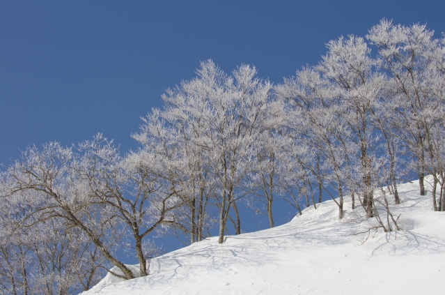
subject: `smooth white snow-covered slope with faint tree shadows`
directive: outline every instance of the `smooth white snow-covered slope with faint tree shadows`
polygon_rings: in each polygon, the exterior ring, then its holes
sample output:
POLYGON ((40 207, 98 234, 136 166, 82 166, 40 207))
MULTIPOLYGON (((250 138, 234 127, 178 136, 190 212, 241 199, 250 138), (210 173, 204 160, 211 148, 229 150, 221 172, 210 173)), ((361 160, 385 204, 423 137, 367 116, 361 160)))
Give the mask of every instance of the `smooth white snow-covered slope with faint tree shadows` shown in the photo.
POLYGON ((402 203, 391 206, 403 227, 397 233, 371 231, 364 242, 368 234, 357 233, 372 221, 355 222, 350 201, 338 220, 328 201, 286 225, 152 259, 144 278, 108 274, 84 294, 445 294, 445 212, 432 211, 431 192, 419 196, 418 181, 399 192, 402 203))

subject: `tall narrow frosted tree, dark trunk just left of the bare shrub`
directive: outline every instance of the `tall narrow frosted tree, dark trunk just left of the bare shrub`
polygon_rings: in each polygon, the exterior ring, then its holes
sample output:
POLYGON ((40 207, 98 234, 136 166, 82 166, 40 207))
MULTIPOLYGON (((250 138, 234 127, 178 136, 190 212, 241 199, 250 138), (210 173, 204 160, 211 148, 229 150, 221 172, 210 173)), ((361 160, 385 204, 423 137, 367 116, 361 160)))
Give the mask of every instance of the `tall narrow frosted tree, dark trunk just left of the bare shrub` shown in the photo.
POLYGON ((352 135, 339 134, 338 139, 345 146, 345 153, 348 153, 345 140, 350 139, 347 162, 354 162, 354 158, 357 157, 359 163, 356 174, 360 180, 352 191, 361 192, 364 208, 368 216, 371 216, 373 190, 377 187, 377 183, 373 180, 375 155, 372 151, 378 139, 370 124, 370 113, 382 85, 382 79, 373 75, 373 60, 364 39, 355 36, 349 36, 347 40, 339 38, 331 40, 327 48, 328 53, 323 56, 323 61, 319 63, 317 70, 331 82, 335 89, 331 93, 336 93, 338 96, 338 100, 333 100, 338 104, 335 112, 339 112, 338 117, 343 119, 348 132, 352 135))

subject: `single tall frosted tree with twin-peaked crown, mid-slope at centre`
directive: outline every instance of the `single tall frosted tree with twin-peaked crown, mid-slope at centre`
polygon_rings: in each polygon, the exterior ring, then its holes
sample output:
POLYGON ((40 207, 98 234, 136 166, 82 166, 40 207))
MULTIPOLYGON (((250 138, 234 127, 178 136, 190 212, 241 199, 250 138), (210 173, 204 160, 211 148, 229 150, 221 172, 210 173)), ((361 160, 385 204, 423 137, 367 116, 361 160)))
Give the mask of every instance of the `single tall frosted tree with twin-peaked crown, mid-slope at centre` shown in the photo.
MULTIPOLYGON (((251 66, 240 66, 231 77, 212 61, 205 61, 196 73, 194 80, 167 91, 163 98, 168 115, 163 120, 174 129, 174 144, 200 159, 196 175, 205 174, 211 189, 202 184, 195 191, 212 193, 219 209, 219 243, 223 243, 228 220, 233 221, 237 234, 241 232, 237 200, 245 195, 243 188, 253 172, 256 139, 279 124, 281 107, 271 99, 272 84, 255 78, 256 69, 251 66), (232 210, 234 218, 229 215, 232 210)), ((147 142, 146 134, 153 135, 148 132, 153 125, 146 124, 135 136, 142 143, 147 142)), ((182 153, 181 161, 187 157, 182 153)))

